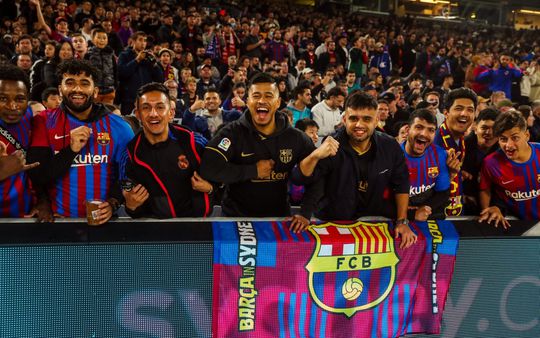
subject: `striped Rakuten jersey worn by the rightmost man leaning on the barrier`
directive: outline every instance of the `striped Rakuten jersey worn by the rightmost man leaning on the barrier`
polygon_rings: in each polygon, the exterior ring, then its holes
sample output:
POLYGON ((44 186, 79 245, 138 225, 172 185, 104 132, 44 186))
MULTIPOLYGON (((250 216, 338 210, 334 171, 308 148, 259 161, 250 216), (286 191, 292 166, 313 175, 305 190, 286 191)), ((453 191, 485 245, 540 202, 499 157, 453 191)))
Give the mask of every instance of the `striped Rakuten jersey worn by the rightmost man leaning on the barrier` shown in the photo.
POLYGON ((484 159, 480 190, 493 189, 495 205, 504 205, 520 219, 540 219, 540 144, 529 143, 531 158, 524 163, 509 160, 499 149, 484 159))

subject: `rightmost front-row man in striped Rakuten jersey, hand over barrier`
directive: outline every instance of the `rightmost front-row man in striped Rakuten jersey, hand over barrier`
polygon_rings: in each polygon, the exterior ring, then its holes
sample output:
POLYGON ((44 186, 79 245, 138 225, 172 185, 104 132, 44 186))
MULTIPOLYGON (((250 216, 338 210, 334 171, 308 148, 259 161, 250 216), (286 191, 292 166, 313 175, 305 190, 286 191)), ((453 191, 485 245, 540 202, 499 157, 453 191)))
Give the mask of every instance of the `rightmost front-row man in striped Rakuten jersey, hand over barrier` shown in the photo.
POLYGON ((515 110, 497 117, 493 133, 501 148, 482 164, 479 221, 507 228, 505 213, 540 219, 540 144, 529 142, 527 122, 515 110))

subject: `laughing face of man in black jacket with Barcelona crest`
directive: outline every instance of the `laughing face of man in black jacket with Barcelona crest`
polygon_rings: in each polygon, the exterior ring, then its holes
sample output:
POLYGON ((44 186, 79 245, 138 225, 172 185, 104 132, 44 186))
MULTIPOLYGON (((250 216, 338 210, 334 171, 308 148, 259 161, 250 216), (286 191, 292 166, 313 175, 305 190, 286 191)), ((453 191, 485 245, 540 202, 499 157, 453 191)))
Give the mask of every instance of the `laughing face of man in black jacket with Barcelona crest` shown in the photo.
POLYGON ((271 134, 276 121, 274 115, 279 108, 280 97, 275 83, 254 83, 249 88, 247 106, 255 128, 263 134, 271 134))

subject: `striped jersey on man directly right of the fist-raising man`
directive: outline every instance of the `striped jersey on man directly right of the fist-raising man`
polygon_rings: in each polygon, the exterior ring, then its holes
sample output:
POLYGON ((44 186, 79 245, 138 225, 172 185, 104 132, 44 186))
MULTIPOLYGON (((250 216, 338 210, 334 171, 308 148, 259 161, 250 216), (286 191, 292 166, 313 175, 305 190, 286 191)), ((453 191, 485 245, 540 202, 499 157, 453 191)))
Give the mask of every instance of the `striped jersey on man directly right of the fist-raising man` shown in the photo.
POLYGON ((420 157, 414 157, 405 151, 405 143, 401 149, 407 160, 409 168, 409 182, 411 189, 409 197, 424 201, 424 195, 432 195, 434 191, 444 191, 450 188, 450 175, 446 165, 446 151, 438 145, 432 144, 420 157))

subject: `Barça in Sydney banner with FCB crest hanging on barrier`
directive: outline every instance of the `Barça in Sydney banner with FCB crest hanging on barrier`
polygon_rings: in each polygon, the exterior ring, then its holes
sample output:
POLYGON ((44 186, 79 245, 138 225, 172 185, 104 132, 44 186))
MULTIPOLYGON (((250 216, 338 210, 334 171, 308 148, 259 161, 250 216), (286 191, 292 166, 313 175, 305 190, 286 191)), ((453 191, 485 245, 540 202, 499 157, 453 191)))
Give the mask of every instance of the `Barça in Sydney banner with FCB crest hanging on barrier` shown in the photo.
POLYGON ((458 235, 412 223, 214 223, 214 337, 398 337, 439 333, 458 235))

